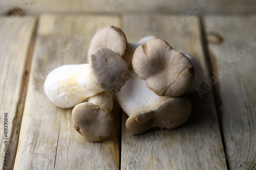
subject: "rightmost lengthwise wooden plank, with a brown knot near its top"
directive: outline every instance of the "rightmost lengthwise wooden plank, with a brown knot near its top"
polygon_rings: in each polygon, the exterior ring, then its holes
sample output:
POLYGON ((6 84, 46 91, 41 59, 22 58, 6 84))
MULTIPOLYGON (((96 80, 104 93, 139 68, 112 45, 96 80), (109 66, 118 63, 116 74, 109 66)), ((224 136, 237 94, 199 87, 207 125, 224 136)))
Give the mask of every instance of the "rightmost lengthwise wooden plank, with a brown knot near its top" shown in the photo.
POLYGON ((208 48, 213 71, 228 68, 215 86, 228 167, 255 169, 256 16, 207 16, 204 25, 206 35, 215 33, 223 38, 222 43, 208 43, 208 48), (254 42, 252 47, 244 48, 246 39, 254 42), (229 57, 247 48, 237 59, 229 57))

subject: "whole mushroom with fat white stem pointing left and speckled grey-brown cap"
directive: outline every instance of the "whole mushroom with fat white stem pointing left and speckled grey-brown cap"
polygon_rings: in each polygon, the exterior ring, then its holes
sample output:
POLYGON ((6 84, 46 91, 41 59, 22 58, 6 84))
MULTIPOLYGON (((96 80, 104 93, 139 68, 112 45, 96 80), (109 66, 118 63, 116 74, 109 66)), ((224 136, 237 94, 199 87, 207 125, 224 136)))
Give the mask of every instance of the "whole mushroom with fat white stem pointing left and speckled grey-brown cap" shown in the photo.
POLYGON ((109 48, 99 47, 89 64, 64 65, 49 73, 45 93, 61 108, 77 105, 102 91, 117 93, 129 72, 126 62, 109 48))

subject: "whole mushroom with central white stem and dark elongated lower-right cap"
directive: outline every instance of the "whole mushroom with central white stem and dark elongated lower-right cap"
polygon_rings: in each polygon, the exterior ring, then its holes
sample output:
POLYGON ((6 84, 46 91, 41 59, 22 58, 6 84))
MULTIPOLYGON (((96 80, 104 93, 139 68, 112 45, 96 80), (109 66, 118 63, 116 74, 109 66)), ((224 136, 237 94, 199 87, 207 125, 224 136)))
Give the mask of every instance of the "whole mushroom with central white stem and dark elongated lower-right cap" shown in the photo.
POLYGON ((132 134, 155 127, 176 128, 188 119, 191 103, 186 96, 159 96, 133 70, 130 77, 116 95, 121 108, 129 115, 126 128, 132 134))

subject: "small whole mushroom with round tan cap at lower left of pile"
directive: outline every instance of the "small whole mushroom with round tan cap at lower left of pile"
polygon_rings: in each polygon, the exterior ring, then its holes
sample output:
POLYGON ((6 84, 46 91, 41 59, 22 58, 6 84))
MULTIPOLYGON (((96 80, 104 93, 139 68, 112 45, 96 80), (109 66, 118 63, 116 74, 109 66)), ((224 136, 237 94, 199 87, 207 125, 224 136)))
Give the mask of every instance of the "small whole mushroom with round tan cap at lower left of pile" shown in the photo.
POLYGON ((102 141, 111 135, 113 116, 112 95, 98 93, 88 98, 88 102, 76 105, 72 110, 74 128, 91 141, 102 141), (108 96, 106 98, 106 96, 108 96))

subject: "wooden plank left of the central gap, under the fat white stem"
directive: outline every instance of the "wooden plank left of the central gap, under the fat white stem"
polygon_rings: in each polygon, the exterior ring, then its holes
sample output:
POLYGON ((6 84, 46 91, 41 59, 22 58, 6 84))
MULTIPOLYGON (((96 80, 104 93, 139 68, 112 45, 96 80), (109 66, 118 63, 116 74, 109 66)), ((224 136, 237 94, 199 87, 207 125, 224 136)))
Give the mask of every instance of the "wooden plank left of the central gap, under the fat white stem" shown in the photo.
POLYGON ((110 139, 91 142, 73 128, 72 109, 54 106, 43 88, 53 68, 86 63, 92 36, 106 25, 119 26, 119 17, 40 16, 14 169, 118 169, 118 124, 110 139))

